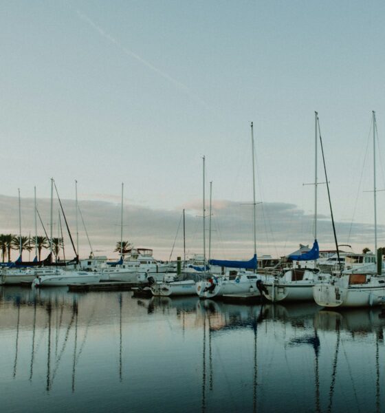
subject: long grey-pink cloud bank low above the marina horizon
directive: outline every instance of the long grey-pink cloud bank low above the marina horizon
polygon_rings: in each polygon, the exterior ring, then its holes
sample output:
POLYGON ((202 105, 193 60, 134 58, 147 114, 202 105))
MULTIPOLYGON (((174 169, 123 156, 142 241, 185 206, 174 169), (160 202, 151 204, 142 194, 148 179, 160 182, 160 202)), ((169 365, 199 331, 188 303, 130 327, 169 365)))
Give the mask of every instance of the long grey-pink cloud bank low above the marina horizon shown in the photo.
MULTIPOLYGON (((63 208, 76 244, 76 209, 74 200, 62 200, 63 208)), ((80 210, 85 220, 85 227, 96 255, 116 256, 113 253, 116 242, 120 240, 120 202, 104 200, 82 200, 80 210)), ((50 200, 40 198, 37 207, 43 224, 50 234, 50 200)), ((183 256, 182 209, 186 209, 186 253, 203 251, 203 230, 201 202, 190 202, 177 210, 151 209, 135 204, 124 204, 124 240, 129 240, 137 247, 153 248, 155 257, 168 259, 183 256), (174 248, 173 248, 174 246, 174 248)), ((52 231, 58 236, 57 200, 54 201, 54 223, 52 231)), ((206 211, 208 215, 208 209, 206 211)), ((281 256, 294 251, 298 244, 312 244, 314 240, 314 217, 307 215, 295 204, 267 202, 256 208, 256 244, 259 255, 268 253, 281 256)), ((23 235, 34 235, 34 200, 21 199, 21 229, 23 235)), ((38 218, 39 220, 39 218, 38 218)), ((17 197, 0 195, 0 232, 19 233, 19 204, 17 197)), ((242 202, 219 200, 212 204, 212 257, 250 258, 254 251, 252 229, 252 205, 242 202)), ((66 256, 74 254, 69 242, 62 218, 65 237, 66 256)), ((206 248, 208 248, 208 224, 206 221, 206 248)), ((78 216, 80 256, 89 254, 85 229, 78 216)), ((337 222, 336 229, 340 244, 351 244, 355 251, 374 244, 374 229, 371 224, 337 222), (352 235, 349 237, 349 233, 352 235)), ((381 226, 378 232, 383 230, 381 226)), ((38 221, 38 233, 43 235, 43 227, 38 221)), ((330 219, 318 218, 318 240, 320 248, 334 248, 333 230, 330 219)), ((380 237, 379 246, 385 244, 380 237)), ((208 255, 208 249, 206 251, 208 255)))

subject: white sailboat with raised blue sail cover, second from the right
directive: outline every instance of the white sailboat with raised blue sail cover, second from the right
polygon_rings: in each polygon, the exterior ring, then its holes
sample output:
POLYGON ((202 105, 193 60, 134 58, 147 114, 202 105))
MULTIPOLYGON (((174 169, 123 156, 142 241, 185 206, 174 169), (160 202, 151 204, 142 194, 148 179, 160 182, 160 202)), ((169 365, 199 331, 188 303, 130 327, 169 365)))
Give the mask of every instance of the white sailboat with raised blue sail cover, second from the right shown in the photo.
POLYGON ((316 117, 316 147, 315 147, 315 191, 314 191, 314 244, 310 251, 300 255, 289 255, 293 267, 287 269, 280 276, 275 277, 272 282, 263 283, 263 295, 270 301, 310 301, 313 300, 313 286, 320 282, 329 280, 331 275, 322 273, 316 266, 320 255, 317 241, 317 147, 318 147, 318 113, 316 117), (305 265, 301 265, 303 263, 305 265))

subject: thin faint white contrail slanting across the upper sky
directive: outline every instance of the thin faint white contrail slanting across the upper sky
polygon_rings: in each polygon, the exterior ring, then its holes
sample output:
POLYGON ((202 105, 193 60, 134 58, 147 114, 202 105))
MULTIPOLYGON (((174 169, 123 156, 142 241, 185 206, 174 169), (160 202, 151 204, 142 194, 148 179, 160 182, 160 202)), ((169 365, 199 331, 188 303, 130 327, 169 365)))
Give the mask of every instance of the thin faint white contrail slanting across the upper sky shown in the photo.
POLYGON ((105 32, 102 28, 100 28, 100 26, 98 26, 94 21, 92 21, 91 19, 89 19, 89 17, 87 17, 85 14, 83 14, 82 12, 80 12, 80 10, 76 10, 76 13, 78 14, 78 17, 80 17, 80 19, 82 19, 83 21, 85 21, 86 23, 88 23, 92 28, 94 28, 101 36, 104 37, 104 39, 109 40, 111 43, 113 43, 116 47, 118 47, 120 50, 122 50, 122 52, 124 54, 126 54, 127 56, 133 57, 134 59, 136 59, 137 61, 139 61, 140 63, 142 63, 143 65, 145 65, 146 67, 148 67, 148 69, 153 70, 153 72, 159 74, 160 76, 162 76, 163 78, 165 78, 166 80, 168 80, 170 83, 173 83, 173 85, 175 85, 177 88, 181 89, 183 92, 185 92, 186 94, 188 94, 190 97, 194 98, 195 100, 198 100, 199 103, 201 103, 204 107, 206 107, 206 109, 210 109, 210 106, 204 102, 203 100, 201 100, 201 98, 199 98, 198 96, 195 96, 195 94, 193 94, 191 92, 191 90, 184 85, 183 83, 175 80, 174 78, 172 78, 171 76, 169 76, 168 74, 162 72, 162 70, 159 70, 157 67, 155 67, 153 64, 149 63, 148 61, 144 60, 141 56, 139 56, 138 54, 131 52, 131 50, 127 49, 127 47, 125 47, 124 45, 122 45, 117 39, 115 39, 115 37, 111 36, 111 34, 105 32))

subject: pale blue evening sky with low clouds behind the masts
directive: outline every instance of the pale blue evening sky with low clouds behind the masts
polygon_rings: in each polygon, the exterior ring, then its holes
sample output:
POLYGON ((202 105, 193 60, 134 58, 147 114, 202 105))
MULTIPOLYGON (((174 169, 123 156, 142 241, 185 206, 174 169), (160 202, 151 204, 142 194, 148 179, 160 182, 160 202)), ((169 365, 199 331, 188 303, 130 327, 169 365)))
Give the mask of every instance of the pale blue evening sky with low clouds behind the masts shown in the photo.
MULTIPOLYGON (((314 240, 304 184, 317 111, 338 242, 372 248, 375 110, 385 243, 383 2, 12 0, 0 10, 2 232, 19 231, 18 189, 22 232, 34 232, 34 187, 45 211, 51 177, 73 229, 78 180, 94 249, 113 256, 124 182, 125 239, 155 257, 174 243, 180 253, 186 209, 188 251, 201 253, 205 156, 212 252, 250 257, 253 122, 257 251, 289 253, 314 240)), ((325 182, 321 162, 318 151, 325 182)), ((325 184, 318 213, 320 248, 333 248, 325 184)))

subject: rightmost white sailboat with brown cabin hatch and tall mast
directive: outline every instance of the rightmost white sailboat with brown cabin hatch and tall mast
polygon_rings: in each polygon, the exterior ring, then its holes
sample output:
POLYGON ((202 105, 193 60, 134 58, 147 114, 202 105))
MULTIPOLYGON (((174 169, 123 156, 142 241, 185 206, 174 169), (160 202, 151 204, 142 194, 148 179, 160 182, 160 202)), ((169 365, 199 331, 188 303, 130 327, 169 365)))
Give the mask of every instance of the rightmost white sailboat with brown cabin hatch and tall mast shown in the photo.
MULTIPOLYGON (((377 187, 375 167, 375 142, 377 125, 373 111, 373 193, 375 251, 377 251, 377 187)), ((382 276, 382 252, 377 251, 377 268, 375 264, 351 268, 343 271, 340 277, 331 282, 314 286, 314 300, 323 307, 363 307, 377 306, 385 302, 385 277, 382 276)))

